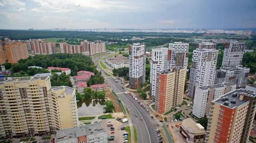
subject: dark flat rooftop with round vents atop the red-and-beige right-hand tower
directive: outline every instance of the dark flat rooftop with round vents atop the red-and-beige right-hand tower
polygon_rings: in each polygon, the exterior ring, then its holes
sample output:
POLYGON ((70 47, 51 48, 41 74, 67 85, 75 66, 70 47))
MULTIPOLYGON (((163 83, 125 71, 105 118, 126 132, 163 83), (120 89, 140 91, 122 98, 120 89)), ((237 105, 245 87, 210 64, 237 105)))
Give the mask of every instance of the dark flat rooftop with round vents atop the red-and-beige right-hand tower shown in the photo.
POLYGON ((254 98, 256 97, 256 91, 240 88, 240 89, 233 90, 230 93, 224 94, 212 102, 221 104, 229 108, 240 107, 246 102, 249 102, 249 101, 239 100, 240 95, 250 96, 254 98))

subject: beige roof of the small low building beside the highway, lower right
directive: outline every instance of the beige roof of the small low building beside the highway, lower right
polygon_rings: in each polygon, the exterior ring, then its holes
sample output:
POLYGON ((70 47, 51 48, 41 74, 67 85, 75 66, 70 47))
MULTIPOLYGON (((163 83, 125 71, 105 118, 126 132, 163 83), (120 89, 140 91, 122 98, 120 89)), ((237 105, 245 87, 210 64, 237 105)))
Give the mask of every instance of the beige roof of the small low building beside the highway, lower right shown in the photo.
POLYGON ((191 134, 205 134, 206 131, 200 123, 196 123, 192 118, 186 118, 182 121, 181 126, 191 134))

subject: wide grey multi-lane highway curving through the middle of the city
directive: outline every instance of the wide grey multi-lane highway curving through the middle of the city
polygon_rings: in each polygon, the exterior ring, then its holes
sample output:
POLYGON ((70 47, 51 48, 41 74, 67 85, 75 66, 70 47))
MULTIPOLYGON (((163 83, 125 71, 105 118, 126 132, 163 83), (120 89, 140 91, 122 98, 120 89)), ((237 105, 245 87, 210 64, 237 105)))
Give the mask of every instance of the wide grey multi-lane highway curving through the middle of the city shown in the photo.
POLYGON ((109 55, 111 55, 111 53, 93 58, 93 62, 97 65, 97 69, 102 71, 102 76, 104 76, 108 85, 120 98, 122 103, 130 109, 131 121, 137 130, 138 143, 158 143, 157 132, 155 129, 159 127, 159 124, 156 119, 150 117, 150 114, 152 114, 150 109, 148 109, 146 105, 144 105, 145 109, 140 106, 131 95, 125 93, 127 90, 126 88, 122 89, 122 85, 120 84, 121 81, 115 82, 113 80, 114 77, 106 75, 104 70, 99 66, 99 60, 109 55), (149 112, 147 112, 146 109, 148 109, 149 112), (135 117, 135 115, 137 115, 137 117, 135 117), (140 118, 143 120, 141 121, 140 118))

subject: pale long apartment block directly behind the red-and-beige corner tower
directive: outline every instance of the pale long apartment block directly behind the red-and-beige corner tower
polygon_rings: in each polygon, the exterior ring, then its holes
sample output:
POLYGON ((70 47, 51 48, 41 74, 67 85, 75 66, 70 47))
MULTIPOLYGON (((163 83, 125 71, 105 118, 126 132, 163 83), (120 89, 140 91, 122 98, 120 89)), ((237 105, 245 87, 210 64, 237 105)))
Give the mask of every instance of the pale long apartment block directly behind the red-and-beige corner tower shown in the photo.
POLYGON ((193 112, 197 118, 209 117, 211 102, 220 96, 236 90, 236 84, 221 83, 203 87, 195 87, 193 112))

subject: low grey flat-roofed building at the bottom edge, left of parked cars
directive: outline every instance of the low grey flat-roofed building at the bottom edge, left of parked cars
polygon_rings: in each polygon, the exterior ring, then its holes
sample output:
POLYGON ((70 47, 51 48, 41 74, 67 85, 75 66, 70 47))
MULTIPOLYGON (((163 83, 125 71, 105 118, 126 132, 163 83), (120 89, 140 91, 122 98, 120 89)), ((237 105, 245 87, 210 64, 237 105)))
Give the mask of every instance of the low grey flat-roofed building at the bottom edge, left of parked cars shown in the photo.
POLYGON ((58 130, 56 136, 56 143, 108 143, 101 123, 58 130))

